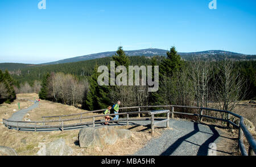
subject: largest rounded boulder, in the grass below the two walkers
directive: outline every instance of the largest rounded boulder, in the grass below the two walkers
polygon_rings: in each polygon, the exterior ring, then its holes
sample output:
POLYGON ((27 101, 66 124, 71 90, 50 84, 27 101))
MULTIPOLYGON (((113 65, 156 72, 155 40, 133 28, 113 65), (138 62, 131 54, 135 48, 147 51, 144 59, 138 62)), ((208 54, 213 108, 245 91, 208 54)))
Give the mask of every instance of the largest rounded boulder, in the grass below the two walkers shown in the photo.
POLYGON ((80 147, 103 147, 117 142, 118 134, 114 127, 85 127, 79 131, 80 147))

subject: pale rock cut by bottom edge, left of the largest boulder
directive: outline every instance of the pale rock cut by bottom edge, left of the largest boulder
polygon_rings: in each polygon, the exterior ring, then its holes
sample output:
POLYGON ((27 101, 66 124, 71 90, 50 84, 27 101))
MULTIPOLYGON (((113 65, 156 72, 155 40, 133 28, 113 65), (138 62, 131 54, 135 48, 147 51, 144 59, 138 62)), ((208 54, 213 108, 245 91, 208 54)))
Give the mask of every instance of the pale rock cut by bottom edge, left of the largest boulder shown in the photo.
POLYGON ((40 144, 39 156, 69 156, 73 154, 72 148, 68 147, 64 139, 57 139, 51 143, 40 144))

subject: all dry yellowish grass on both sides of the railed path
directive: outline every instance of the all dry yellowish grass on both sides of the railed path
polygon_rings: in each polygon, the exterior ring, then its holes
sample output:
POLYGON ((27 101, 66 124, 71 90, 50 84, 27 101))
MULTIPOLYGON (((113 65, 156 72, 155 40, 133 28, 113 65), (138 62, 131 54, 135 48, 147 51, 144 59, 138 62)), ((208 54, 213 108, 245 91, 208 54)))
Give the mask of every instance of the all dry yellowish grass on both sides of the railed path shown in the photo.
MULTIPOLYGON (((37 94, 19 94, 18 99, 30 99, 38 98, 37 94)), ((15 100, 12 104, 0 105, 0 117, 9 118, 13 114, 13 108, 18 106, 18 100, 15 100)), ((33 103, 28 101, 20 102, 21 106, 30 106, 33 103)), ((42 121, 42 116, 45 115, 62 115, 62 114, 74 114, 85 112, 85 110, 77 109, 73 106, 57 104, 54 102, 40 100, 39 107, 31 110, 26 115, 26 118, 31 121, 42 121)), ((86 114, 95 115, 94 114, 86 114)), ((77 117, 77 116, 76 116, 77 117)), ((70 118, 70 117, 68 117, 70 118)), ((55 118, 56 119, 56 118, 55 118)), ((103 119, 103 118, 98 118, 103 119)), ((89 121, 89 120, 88 120, 89 121)), ((91 120, 92 121, 92 120, 91 120)), ((72 122, 68 122, 72 123, 72 122)), ((130 139, 118 140, 115 145, 105 145, 103 148, 80 148, 78 144, 79 130, 67 130, 67 131, 51 131, 51 132, 32 132, 32 131, 16 131, 9 130, 3 124, 0 125, 0 145, 14 148, 18 155, 36 155, 42 144, 47 144, 53 140, 63 138, 66 144, 73 149, 73 155, 131 155, 142 148, 152 138, 150 129, 145 126, 117 126, 118 129, 130 129, 133 131, 133 135, 130 139), (142 131, 143 130, 143 131, 142 131)), ((157 138, 162 133, 163 129, 156 128, 155 136, 157 138)))

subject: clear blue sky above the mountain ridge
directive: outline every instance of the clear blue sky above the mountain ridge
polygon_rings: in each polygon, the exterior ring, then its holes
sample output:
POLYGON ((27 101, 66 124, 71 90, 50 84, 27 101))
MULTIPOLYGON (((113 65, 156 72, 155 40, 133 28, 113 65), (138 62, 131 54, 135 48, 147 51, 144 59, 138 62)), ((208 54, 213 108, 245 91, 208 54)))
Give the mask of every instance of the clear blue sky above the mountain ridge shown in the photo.
POLYGON ((117 50, 256 54, 256 1, 0 1, 0 62, 44 63, 117 50))

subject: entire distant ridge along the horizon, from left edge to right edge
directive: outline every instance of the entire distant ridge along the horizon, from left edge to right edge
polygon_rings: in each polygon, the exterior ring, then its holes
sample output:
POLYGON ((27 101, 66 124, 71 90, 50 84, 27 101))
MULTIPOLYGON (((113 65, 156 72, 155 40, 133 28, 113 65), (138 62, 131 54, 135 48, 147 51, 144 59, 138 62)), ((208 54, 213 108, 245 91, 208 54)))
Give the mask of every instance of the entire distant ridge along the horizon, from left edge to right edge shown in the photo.
MULTIPOLYGON (((164 49, 141 49, 141 50, 127 50, 125 51, 126 55, 133 56, 133 55, 140 55, 140 56, 154 56, 154 55, 162 55, 166 56, 167 50, 164 49)), ((36 66, 46 66, 46 65, 57 65, 57 64, 63 64, 63 63, 72 63, 72 62, 80 62, 80 61, 86 61, 91 59, 97 59, 97 58, 104 58, 104 57, 111 57, 116 52, 102 52, 102 53, 95 53, 95 54, 88 54, 88 55, 82 55, 79 57, 73 57, 73 58, 67 58, 62 59, 55 62, 48 62, 48 63, 42 63, 42 64, 23 64, 23 63, 0 63, 0 70, 6 70, 9 71, 23 69, 27 67, 36 67, 36 66)), ((189 53, 183 53, 178 52, 180 54, 181 58, 185 60, 191 60, 193 58, 199 58, 201 60, 209 60, 209 61, 217 61, 220 60, 226 55, 228 58, 236 59, 236 60, 256 60, 256 55, 246 55, 241 53, 234 53, 234 52, 228 52, 224 50, 207 50, 202 52, 189 52, 189 53)))

